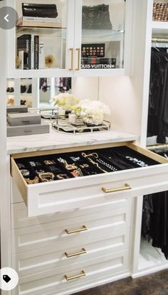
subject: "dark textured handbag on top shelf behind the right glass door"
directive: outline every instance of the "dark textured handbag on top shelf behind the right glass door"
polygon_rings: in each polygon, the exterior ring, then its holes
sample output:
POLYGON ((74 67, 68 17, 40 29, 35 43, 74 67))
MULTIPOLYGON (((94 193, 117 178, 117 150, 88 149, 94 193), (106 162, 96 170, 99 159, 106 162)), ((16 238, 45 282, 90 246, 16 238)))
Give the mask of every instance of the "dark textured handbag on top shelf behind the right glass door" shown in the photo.
POLYGON ((109 5, 83 6, 83 28, 112 29, 109 5))

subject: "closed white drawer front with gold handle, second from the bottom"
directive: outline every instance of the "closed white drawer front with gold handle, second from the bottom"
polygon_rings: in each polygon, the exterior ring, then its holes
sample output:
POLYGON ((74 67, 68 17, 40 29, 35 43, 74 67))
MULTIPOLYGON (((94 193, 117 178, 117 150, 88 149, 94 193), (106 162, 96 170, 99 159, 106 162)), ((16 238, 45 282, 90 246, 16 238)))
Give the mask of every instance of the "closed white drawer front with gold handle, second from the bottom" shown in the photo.
POLYGON ((101 237, 98 233, 94 238, 100 240, 92 242, 89 238, 83 244, 80 240, 75 240, 75 242, 61 244, 59 247, 52 246, 12 255, 12 267, 18 272, 19 277, 24 277, 54 268, 68 269, 70 264, 127 250, 130 242, 130 227, 119 230, 115 234, 108 230, 101 233, 101 237))

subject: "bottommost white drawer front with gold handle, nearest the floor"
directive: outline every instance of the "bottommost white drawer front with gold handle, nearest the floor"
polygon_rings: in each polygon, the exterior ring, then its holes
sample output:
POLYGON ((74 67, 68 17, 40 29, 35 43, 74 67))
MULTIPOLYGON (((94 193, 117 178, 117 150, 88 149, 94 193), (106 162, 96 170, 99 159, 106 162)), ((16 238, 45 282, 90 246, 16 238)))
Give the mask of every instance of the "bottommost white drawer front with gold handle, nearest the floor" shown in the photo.
MULTIPOLYGON (((115 274, 127 271, 128 252, 117 252, 103 257, 96 257, 80 265, 71 264, 62 272, 52 269, 48 272, 41 272, 19 279, 19 286, 12 291, 12 295, 46 295, 54 292, 59 294, 61 291, 73 289, 78 286, 85 286, 89 281, 99 281, 101 277, 113 277, 115 274), (85 277, 66 281, 65 274, 68 277, 76 276, 85 272, 85 277)), ((61 270, 61 269, 60 269, 61 270)))

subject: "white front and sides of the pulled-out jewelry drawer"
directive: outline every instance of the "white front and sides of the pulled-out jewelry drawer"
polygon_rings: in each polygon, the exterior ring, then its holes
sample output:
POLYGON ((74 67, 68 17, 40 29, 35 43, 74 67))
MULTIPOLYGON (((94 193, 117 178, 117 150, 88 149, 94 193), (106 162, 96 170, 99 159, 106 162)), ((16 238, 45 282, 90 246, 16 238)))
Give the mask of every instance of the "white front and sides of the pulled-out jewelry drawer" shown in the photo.
POLYGON ((28 217, 107 203, 112 196, 116 198, 125 196, 127 198, 166 191, 168 189, 167 159, 135 145, 128 144, 128 146, 162 164, 27 185, 16 166, 16 162, 11 158, 11 174, 27 205, 28 217), (129 186, 125 186, 126 183, 129 186), (103 188, 113 189, 113 191, 106 191, 105 193, 103 188), (125 189, 127 191, 123 191, 125 189))

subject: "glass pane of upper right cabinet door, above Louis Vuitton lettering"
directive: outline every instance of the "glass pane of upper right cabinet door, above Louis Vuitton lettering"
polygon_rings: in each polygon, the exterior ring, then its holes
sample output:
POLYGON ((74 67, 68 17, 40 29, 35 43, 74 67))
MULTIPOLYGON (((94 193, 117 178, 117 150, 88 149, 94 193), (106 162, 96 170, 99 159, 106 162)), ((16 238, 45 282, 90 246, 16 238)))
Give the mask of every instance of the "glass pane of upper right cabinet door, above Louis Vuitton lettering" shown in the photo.
POLYGON ((82 69, 123 68, 125 0, 83 0, 82 69))

